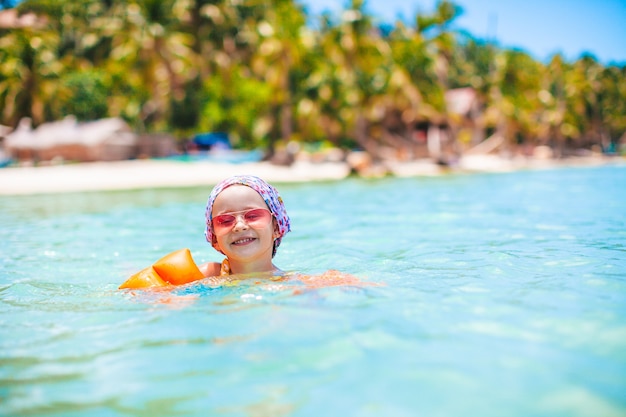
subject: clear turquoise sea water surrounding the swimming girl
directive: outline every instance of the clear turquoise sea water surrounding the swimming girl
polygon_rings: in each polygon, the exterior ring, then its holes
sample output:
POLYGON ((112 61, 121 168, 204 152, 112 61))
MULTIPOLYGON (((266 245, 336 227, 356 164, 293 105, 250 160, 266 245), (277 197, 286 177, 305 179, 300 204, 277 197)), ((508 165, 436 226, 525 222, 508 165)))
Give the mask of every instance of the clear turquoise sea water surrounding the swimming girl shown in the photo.
POLYGON ((0 198, 0 415, 624 416, 626 167, 277 184, 276 264, 117 291, 207 189, 0 198))

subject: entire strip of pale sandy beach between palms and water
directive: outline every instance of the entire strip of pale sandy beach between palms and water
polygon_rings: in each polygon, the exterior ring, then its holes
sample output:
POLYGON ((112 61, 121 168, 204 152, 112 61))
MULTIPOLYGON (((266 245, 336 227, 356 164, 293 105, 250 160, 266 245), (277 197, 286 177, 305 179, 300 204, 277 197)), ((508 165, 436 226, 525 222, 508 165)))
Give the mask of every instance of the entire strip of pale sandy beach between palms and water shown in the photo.
MULTIPOLYGON (((387 175, 423 177, 450 174, 497 173, 521 170, 622 165, 624 157, 589 156, 560 160, 514 158, 491 155, 462 158, 453 167, 430 160, 393 162, 385 165, 387 175)), ((269 162, 218 163, 168 160, 86 162, 41 167, 0 169, 0 196, 115 191, 147 188, 213 186, 237 175, 257 175, 270 183, 336 181, 351 173, 345 162, 297 161, 290 167, 269 162)), ((383 175, 372 175, 372 177, 383 175)))

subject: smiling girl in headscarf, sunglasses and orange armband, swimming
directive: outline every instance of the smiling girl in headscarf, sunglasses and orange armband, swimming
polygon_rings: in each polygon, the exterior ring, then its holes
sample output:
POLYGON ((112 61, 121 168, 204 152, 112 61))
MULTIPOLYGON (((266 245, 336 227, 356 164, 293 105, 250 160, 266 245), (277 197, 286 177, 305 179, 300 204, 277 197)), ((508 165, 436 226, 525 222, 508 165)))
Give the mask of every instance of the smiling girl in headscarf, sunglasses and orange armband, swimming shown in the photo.
POLYGON ((284 274, 272 259, 291 230, 276 188, 251 175, 238 175, 213 188, 206 206, 206 240, 226 258, 197 266, 189 249, 172 252, 132 275, 120 288, 182 285, 209 277, 242 274, 279 275, 308 288, 362 284, 356 277, 329 270, 322 275, 284 274))

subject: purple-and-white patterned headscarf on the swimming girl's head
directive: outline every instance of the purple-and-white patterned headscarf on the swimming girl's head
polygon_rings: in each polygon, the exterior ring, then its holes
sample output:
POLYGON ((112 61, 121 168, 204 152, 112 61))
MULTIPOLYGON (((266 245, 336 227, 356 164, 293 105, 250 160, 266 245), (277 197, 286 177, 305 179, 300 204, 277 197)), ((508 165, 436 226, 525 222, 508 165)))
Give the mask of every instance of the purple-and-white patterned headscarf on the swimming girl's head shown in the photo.
MULTIPOLYGON (((230 177, 225 179, 224 181, 217 184, 213 191, 211 191, 211 195, 209 195, 209 200, 206 205, 206 230, 204 235, 206 236, 207 242, 209 242, 216 250, 217 249, 217 241, 214 239, 215 234, 213 232, 213 203, 215 203, 215 199, 226 188, 231 185, 245 185, 247 187, 252 188, 254 191, 259 193, 259 195, 265 200, 265 204, 267 204, 267 208, 272 212, 274 219, 276 219, 276 224, 278 225, 278 237, 274 240, 274 248, 272 251, 272 257, 276 255, 276 249, 280 245, 280 242, 283 239, 283 236, 291 230, 291 224, 289 222, 289 216, 287 215, 287 210, 285 209, 285 204, 283 203, 283 199, 278 194, 278 190, 263 181, 259 177, 255 177, 252 175, 236 175, 234 177, 230 177)), ((220 251, 221 252, 221 251, 220 251)))

